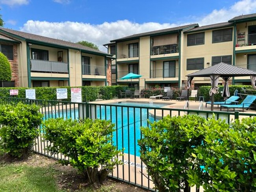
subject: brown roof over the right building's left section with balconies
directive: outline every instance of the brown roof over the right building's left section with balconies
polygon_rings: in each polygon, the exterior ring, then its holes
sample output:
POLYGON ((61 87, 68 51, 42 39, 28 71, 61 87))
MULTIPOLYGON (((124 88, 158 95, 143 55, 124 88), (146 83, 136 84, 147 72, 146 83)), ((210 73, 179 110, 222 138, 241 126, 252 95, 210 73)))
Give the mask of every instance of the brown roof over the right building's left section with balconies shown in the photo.
POLYGON ((145 32, 145 33, 138 33, 138 34, 122 37, 122 38, 119 38, 119 39, 111 40, 110 42, 122 41, 122 40, 126 40, 126 39, 133 39, 133 38, 143 37, 143 36, 148 36, 148 35, 156 35, 158 33, 167 33, 167 32, 172 32, 172 31, 178 31, 178 30, 183 30, 183 29, 186 29, 186 28, 197 27, 197 26, 198 26, 198 24, 190 24, 190 25, 178 26, 178 27, 174 27, 174 28, 167 28, 167 29, 163 29, 163 30, 156 30, 156 31, 149 31, 149 32, 145 32))

